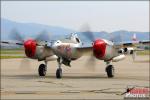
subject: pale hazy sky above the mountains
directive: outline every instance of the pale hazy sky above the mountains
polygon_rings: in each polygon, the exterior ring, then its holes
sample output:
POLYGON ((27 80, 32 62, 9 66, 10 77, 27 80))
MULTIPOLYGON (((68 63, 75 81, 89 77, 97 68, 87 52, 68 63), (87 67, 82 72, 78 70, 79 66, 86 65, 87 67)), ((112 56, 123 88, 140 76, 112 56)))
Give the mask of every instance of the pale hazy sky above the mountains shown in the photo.
POLYGON ((1 1, 1 17, 93 31, 149 31, 149 1, 1 1))

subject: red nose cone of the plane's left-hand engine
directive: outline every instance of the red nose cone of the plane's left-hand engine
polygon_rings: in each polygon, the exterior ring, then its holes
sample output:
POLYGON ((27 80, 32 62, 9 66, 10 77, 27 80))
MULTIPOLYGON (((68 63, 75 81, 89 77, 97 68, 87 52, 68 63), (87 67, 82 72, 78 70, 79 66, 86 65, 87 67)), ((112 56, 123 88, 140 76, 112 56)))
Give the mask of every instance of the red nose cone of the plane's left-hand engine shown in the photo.
POLYGON ((25 54, 27 57, 34 57, 36 52, 36 41, 29 39, 24 42, 25 54))

